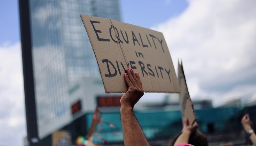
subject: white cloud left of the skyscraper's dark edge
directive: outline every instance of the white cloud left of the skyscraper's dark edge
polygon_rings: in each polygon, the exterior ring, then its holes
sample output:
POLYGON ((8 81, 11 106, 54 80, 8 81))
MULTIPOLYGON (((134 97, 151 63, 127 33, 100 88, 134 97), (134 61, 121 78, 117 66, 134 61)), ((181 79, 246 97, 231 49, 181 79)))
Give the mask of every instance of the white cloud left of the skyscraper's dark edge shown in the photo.
POLYGON ((0 46, 0 145, 22 145, 26 135, 21 44, 0 46))

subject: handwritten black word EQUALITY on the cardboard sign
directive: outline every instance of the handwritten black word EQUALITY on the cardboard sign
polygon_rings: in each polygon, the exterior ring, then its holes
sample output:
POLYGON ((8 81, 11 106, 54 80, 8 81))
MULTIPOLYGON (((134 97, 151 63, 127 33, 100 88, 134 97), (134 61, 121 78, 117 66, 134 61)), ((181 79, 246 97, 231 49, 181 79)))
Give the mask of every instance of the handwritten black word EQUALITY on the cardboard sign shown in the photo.
MULTIPOLYGON (((94 30, 94 32, 95 32, 95 34, 97 36, 98 41, 110 42, 110 38, 100 38, 99 37, 99 33, 101 33, 101 30, 99 30, 99 28, 100 28, 99 24, 101 24, 101 22, 99 22, 99 21, 92 21, 92 20, 90 20, 90 22, 91 22, 93 30, 94 30), (97 26, 97 28, 95 28, 95 26, 97 26)), ((122 43, 122 44, 124 44, 124 42, 125 42, 125 43, 129 44, 129 38, 130 38, 132 40, 134 46, 142 45, 142 47, 144 47, 144 48, 145 47, 148 48, 150 46, 151 48, 155 47, 155 49, 157 49, 156 43, 160 43, 160 45, 162 47, 162 50, 163 50, 163 53, 164 53, 163 44, 162 44, 163 43, 163 39, 160 40, 158 37, 155 37, 152 34, 149 34, 149 35, 145 34, 147 40, 146 39, 143 40, 140 33, 138 33, 139 34, 139 37, 138 37, 138 34, 136 36, 135 33, 132 30, 131 30, 131 35, 132 36, 128 37, 126 31, 124 31, 124 33, 123 33, 122 30, 119 31, 113 25, 111 25, 111 27, 109 27, 109 36, 111 37, 112 41, 115 42, 115 43, 122 43), (114 31, 114 34, 112 34, 112 30, 114 31), (124 33, 125 33, 125 36, 124 36, 124 33), (122 39, 120 37, 120 34, 122 35, 122 39), (116 37, 118 41, 115 40, 114 37, 116 37), (139 38, 139 39, 137 39, 137 38, 139 38)))

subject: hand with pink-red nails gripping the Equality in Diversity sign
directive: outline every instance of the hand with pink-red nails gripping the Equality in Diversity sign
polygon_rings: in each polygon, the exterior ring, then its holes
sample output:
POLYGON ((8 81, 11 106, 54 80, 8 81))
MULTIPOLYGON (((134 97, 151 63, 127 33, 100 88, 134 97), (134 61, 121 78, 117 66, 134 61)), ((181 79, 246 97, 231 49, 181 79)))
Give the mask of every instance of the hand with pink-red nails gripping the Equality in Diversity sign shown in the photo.
POLYGON ((139 73, 134 73, 132 68, 128 68, 126 71, 127 73, 124 74, 124 78, 128 85, 128 91, 124 93, 120 102, 121 105, 126 104, 133 108, 143 96, 144 91, 142 89, 139 73))

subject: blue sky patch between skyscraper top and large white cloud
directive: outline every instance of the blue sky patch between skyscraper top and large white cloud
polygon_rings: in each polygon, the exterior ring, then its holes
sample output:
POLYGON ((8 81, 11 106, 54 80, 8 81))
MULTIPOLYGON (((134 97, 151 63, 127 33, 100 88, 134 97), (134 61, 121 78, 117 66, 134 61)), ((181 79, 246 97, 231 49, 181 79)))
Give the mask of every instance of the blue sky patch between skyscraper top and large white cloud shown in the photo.
POLYGON ((123 22, 146 28, 178 16, 188 6, 185 0, 121 0, 120 3, 123 22))

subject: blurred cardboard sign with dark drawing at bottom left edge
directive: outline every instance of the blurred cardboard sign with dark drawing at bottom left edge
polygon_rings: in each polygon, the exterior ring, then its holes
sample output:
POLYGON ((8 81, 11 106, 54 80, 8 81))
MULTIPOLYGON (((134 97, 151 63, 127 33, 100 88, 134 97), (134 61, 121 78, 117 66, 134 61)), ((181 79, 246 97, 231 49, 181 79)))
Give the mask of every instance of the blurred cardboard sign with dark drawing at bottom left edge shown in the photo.
POLYGON ((52 133, 52 146, 63 145, 63 142, 68 142, 71 145, 70 133, 67 131, 55 131, 52 133))

